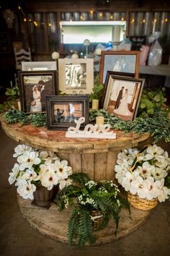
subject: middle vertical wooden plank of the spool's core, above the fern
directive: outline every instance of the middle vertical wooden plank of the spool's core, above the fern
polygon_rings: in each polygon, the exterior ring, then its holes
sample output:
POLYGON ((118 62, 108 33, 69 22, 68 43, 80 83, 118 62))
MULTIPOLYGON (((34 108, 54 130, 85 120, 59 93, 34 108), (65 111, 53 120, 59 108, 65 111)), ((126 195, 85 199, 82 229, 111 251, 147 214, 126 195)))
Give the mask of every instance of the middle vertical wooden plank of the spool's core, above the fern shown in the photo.
POLYGON ((93 153, 81 155, 82 172, 89 175, 91 179, 94 179, 94 155, 93 153))

